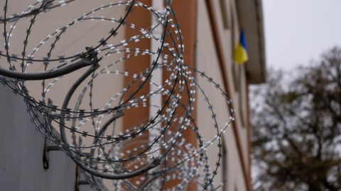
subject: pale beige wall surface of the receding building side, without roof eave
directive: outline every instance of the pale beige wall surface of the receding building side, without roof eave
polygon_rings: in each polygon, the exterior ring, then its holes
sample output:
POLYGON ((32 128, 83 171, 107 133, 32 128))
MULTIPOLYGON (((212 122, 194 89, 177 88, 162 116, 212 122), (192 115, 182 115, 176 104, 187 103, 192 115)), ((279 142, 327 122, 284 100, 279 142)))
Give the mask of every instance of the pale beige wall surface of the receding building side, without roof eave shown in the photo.
MULTIPOLYGON (((222 38, 222 45, 223 45, 223 52, 225 60, 227 60, 226 68, 227 68, 227 79, 229 82, 229 88, 231 88, 229 91, 232 92, 232 103, 233 107, 237 112, 235 112, 236 116, 236 122, 237 126, 239 128, 239 136, 242 142, 242 153, 244 156, 248 156, 248 135, 247 135, 247 127, 245 127, 245 122, 242 122, 242 117, 240 116, 241 112, 238 112, 240 109, 242 109, 240 106, 244 107, 243 112, 247 111, 247 108, 245 108, 246 105, 239 105, 239 91, 236 91, 237 88, 236 85, 239 86, 239 84, 235 84, 235 81, 237 78, 234 79, 233 72, 237 72, 238 66, 233 66, 233 59, 232 59, 232 52, 234 49, 234 45, 237 45, 237 40, 239 36, 239 29, 236 26, 232 26, 232 19, 237 21, 237 18, 235 15, 232 14, 232 9, 234 8, 234 1, 226 1, 226 10, 229 11, 228 17, 225 18, 228 21, 227 28, 224 28, 224 21, 223 21, 223 14, 222 9, 220 6, 219 1, 212 1, 213 6, 215 7, 215 14, 217 18, 218 23, 218 30, 221 34, 222 38), (234 38, 234 39, 232 39, 234 38), (236 71, 233 71, 235 69, 236 71), (244 123, 244 124, 243 124, 244 123)), ((208 76, 212 76, 213 79, 220 83, 221 85, 224 83, 222 79, 222 72, 220 71, 222 68, 220 66, 220 62, 217 58, 217 49, 214 44, 214 39, 211 30, 211 24, 210 24, 210 16, 207 12, 207 6, 204 0, 199 1, 198 6, 198 26, 197 26, 197 68, 200 71, 205 71, 205 73, 208 76)), ((234 22, 235 22, 234 21, 234 22)), ((241 67, 241 74, 244 74, 244 66, 241 67)), ((197 76, 198 81, 200 84, 205 84, 205 80, 200 79, 200 75, 197 76)), ((244 75, 241 77, 241 84, 244 83, 244 75)), ((205 86, 206 93, 209 94, 210 98, 214 98, 212 101, 213 105, 215 105, 215 111, 217 112, 217 119, 218 124, 221 125, 221 127, 224 126, 224 123, 227 122, 229 119, 229 107, 226 104, 226 101, 224 98, 222 98, 221 93, 217 90, 212 90, 212 84, 207 84, 205 86)), ((242 85, 242 88, 244 88, 245 85, 242 85)), ((227 90, 225 90, 227 91, 227 90)), ((242 90, 244 91, 244 90, 242 90)), ((199 94, 198 100, 203 100, 202 96, 199 94)), ((245 103, 244 99, 242 98, 242 103, 245 103)), ((201 128, 200 130, 203 132, 205 137, 214 137, 215 134, 212 134, 212 124, 207 122, 210 122, 210 115, 208 113, 205 113, 207 108, 207 105, 205 105, 205 102, 199 101, 198 102, 198 125, 201 128)), ((242 112, 242 114, 244 114, 242 112)), ((245 115, 245 114, 244 114, 245 115)), ((238 153, 238 148, 236 144, 236 137, 234 136, 232 127, 229 127, 227 132, 224 134, 224 146, 226 147, 227 151, 227 157, 225 158, 225 161, 222 161, 222 163, 225 163, 224 166, 227 167, 227 169, 221 169, 220 173, 217 175, 216 178, 216 184, 219 184, 222 181, 225 181, 224 178, 227 178, 226 185, 224 188, 226 190, 247 190, 247 180, 244 178, 243 175, 243 169, 242 169, 242 163, 241 160, 244 160, 247 165, 248 159, 247 158, 240 158, 238 153), (226 177, 222 177, 223 171, 226 171, 226 177)), ((207 149, 209 151, 209 156, 217 156, 218 149, 217 145, 214 144, 211 146, 211 148, 207 149)), ((215 159, 215 157, 212 157, 212 159, 215 159)), ((215 160, 210 160, 210 166, 215 166, 215 160)))

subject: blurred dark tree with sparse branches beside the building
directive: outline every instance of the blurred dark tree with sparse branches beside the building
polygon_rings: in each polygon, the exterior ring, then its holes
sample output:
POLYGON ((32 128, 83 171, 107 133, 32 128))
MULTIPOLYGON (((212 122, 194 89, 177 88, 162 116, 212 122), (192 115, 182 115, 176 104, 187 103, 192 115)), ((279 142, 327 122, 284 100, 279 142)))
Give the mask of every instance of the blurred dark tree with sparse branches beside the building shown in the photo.
POLYGON ((251 90, 254 190, 341 190, 341 49, 251 90))

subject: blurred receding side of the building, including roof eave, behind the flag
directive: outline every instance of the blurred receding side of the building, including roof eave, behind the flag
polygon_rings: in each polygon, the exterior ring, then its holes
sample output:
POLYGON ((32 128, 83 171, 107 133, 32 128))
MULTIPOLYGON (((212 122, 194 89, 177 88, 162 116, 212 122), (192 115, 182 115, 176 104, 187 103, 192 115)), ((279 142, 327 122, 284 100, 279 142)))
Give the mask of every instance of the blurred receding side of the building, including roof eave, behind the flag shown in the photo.
MULTIPOLYGON (((232 107, 236 111, 232 127, 224 134, 227 156, 222 166, 225 169, 222 169, 216 179, 217 182, 226 180, 226 185, 222 188, 224 191, 251 190, 248 85, 265 80, 261 13, 261 0, 198 0, 197 68, 212 76, 217 83, 224 84, 224 90, 232 99, 232 107), (239 42, 241 29, 247 34, 249 62, 237 65, 233 60, 233 52, 239 42)), ((205 84, 200 75, 197 75, 197 79, 205 84)), ((214 98, 211 100, 215 103, 213 105, 218 105, 218 108, 215 108, 217 120, 223 125, 223 122, 227 121, 225 117, 229 116, 229 107, 224 104, 220 92, 210 91, 210 86, 205 86, 205 91, 207 90, 210 98, 214 98)), ((207 128, 210 127, 207 123, 210 115, 205 113, 207 105, 200 101, 200 93, 198 94, 199 127, 204 136, 212 137, 212 128, 207 128)), ((216 145, 207 150, 212 156, 218 152, 216 145)), ((210 161, 210 166, 215 166, 215 162, 210 161)))

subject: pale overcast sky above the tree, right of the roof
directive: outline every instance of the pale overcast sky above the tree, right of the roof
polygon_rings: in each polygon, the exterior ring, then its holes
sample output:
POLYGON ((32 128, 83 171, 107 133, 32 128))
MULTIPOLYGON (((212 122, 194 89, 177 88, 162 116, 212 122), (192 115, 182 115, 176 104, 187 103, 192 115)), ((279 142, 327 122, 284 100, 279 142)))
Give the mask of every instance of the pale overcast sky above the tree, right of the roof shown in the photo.
POLYGON ((292 69, 341 47, 341 0, 263 0, 268 66, 292 69))

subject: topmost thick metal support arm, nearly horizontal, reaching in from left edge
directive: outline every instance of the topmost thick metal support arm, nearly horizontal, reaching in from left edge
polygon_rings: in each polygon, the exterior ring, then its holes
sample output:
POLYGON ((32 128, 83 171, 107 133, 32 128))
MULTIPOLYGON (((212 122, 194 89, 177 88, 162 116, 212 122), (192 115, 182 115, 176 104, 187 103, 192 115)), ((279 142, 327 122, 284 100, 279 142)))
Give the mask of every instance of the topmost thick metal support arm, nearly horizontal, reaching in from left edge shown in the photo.
POLYGON ((19 71, 11 71, 9 69, 4 69, 0 67, 0 75, 6 76, 12 79, 21 79, 21 80, 26 80, 26 81, 53 79, 59 76, 63 76, 65 74, 69 74, 72 71, 76 71, 77 69, 81 69, 85 66, 90 66, 97 62, 99 62, 97 58, 91 59, 90 57, 87 57, 73 64, 64 66, 63 68, 55 69, 51 71, 45 71, 41 73, 22 73, 19 71))

